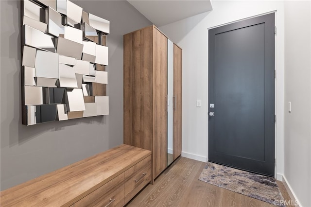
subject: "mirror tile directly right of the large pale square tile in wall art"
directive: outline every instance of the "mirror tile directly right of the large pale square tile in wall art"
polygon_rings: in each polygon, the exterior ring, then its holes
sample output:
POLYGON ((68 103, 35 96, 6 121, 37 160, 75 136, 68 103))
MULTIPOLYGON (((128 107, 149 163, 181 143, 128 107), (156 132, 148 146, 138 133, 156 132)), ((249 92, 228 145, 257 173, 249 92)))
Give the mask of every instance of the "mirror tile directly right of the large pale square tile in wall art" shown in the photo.
POLYGON ((59 64, 59 86, 69 88, 78 87, 76 74, 74 69, 72 69, 70 66, 59 64))

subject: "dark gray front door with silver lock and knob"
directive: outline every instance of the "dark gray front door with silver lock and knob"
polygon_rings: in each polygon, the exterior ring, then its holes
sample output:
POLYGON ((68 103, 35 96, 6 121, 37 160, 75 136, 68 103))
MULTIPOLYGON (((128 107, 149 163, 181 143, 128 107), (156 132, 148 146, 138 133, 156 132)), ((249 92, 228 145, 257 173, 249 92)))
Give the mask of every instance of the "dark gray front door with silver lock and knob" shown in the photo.
POLYGON ((274 25, 268 14, 208 31, 210 162, 274 176, 274 25))

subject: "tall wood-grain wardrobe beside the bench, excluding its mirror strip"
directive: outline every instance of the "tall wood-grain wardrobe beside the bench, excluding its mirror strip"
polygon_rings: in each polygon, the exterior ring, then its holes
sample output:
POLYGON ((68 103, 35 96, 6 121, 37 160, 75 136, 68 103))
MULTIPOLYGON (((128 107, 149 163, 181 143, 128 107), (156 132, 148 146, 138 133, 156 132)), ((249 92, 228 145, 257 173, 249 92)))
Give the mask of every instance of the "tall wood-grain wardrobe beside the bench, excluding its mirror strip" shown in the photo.
MULTIPOLYGON (((152 25, 124 35, 123 46, 123 142, 152 151, 153 183, 168 166, 168 38, 152 25)), ((175 89, 178 113, 174 123, 178 125, 181 124, 181 49, 174 47, 174 74, 177 74, 174 87, 179 87, 175 89)), ((181 126, 173 130, 180 132, 173 141, 174 159, 181 154, 180 130, 181 126)))

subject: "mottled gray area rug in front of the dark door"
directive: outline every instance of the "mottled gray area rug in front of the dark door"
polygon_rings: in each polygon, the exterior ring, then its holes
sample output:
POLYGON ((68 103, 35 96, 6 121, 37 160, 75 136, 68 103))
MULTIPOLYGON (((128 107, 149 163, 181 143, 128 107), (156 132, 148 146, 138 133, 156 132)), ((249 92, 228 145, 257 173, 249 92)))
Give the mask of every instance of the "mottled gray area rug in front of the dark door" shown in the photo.
POLYGON ((273 177, 207 162, 199 180, 270 204, 283 206, 278 202, 284 199, 273 177))

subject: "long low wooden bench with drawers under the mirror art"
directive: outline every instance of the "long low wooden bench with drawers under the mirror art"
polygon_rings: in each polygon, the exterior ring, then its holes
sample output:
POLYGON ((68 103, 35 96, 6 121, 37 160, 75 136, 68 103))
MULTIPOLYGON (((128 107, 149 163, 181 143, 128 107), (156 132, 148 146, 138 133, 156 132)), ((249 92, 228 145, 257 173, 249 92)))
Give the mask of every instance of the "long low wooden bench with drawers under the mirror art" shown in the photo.
POLYGON ((1 191, 1 207, 124 206, 151 181, 151 151, 122 144, 1 191))

